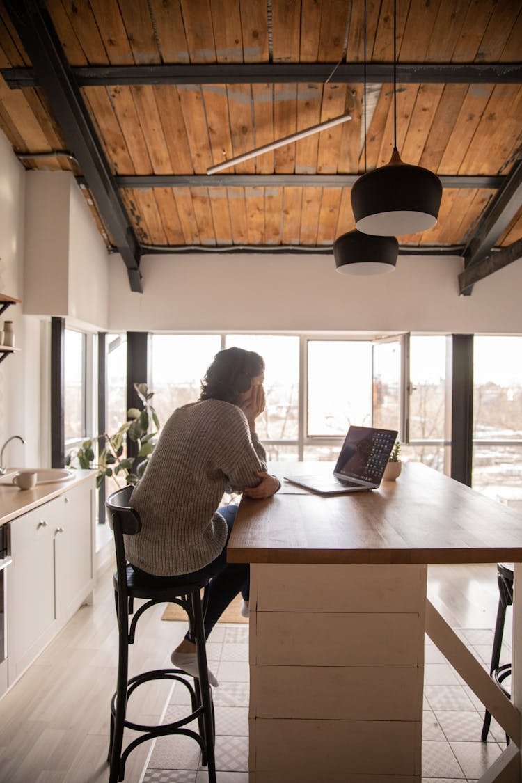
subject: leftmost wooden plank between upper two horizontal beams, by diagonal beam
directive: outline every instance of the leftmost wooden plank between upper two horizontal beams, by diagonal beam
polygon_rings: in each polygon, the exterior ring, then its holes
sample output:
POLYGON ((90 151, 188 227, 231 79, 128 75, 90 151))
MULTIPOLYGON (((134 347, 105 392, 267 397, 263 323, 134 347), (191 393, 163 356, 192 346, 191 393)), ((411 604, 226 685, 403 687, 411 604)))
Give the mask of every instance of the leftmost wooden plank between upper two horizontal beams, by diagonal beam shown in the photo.
POLYGON ((103 143, 107 161, 114 174, 135 174, 127 143, 114 114, 106 87, 85 87, 81 91, 88 103, 89 113, 99 128, 98 137, 103 143))

